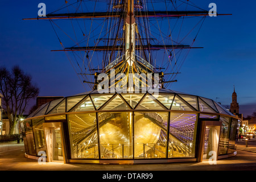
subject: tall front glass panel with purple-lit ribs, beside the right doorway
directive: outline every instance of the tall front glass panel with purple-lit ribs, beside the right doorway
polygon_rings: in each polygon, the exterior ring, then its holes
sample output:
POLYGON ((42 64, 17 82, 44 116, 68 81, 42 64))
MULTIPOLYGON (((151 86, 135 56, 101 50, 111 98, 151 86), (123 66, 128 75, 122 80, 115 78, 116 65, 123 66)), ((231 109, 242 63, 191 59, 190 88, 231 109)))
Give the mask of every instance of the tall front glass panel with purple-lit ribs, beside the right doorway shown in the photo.
POLYGON ((171 113, 168 158, 195 157, 196 114, 171 113))

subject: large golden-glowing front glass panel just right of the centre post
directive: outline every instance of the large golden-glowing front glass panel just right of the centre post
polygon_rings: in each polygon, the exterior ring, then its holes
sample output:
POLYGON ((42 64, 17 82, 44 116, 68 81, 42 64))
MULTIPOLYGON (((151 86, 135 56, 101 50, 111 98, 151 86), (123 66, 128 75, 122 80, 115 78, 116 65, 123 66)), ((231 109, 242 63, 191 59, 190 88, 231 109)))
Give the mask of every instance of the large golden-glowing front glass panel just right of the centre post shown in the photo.
POLYGON ((135 159, 166 158, 168 112, 135 113, 135 159))

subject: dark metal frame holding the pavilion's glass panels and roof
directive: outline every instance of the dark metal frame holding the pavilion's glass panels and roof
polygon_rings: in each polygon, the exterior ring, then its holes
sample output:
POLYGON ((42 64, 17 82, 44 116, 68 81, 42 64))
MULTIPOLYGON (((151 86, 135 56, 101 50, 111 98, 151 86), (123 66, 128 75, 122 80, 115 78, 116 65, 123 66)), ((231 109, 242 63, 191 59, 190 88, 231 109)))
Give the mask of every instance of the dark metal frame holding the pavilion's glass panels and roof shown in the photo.
MULTIPOLYGON (((174 92, 172 90, 167 90, 167 89, 160 89, 159 92, 159 98, 154 100, 154 102, 156 104, 158 104, 158 106, 160 106, 157 109, 142 109, 141 105, 144 103, 144 100, 146 100, 146 98, 154 98, 154 94, 150 94, 150 93, 144 93, 143 95, 140 93, 139 97, 141 97, 139 100, 137 100, 137 104, 133 107, 129 104, 129 102, 127 102, 126 100, 126 94, 129 95, 133 95, 133 96, 137 96, 137 93, 124 93, 124 94, 120 94, 120 93, 112 93, 112 94, 99 94, 96 93, 96 90, 92 91, 92 92, 88 92, 88 93, 84 93, 84 94, 79 94, 76 96, 71 96, 71 97, 65 97, 63 99, 60 100, 55 100, 55 101, 51 101, 48 104, 43 105, 42 107, 40 107, 38 110, 36 110, 34 113, 32 113, 24 122, 31 122, 32 126, 31 128, 33 128, 33 119, 39 119, 39 118, 43 118, 45 123, 52 123, 52 122, 57 122, 57 123, 61 123, 61 126, 63 127, 63 143, 64 143, 64 148, 65 150, 63 150, 64 155, 65 155, 65 160, 64 163, 131 163, 131 164, 135 164, 135 163, 166 163, 166 162, 179 162, 179 161, 198 161, 200 162, 201 159, 201 152, 202 152, 202 136, 204 135, 204 129, 201 129, 201 124, 204 122, 214 122, 214 125, 220 125, 221 123, 221 117, 226 117, 229 118, 229 129, 228 129, 228 135, 230 138, 230 135, 232 135, 231 131, 230 131, 230 127, 232 125, 232 122, 237 122, 238 118, 236 116, 234 116, 232 113, 230 113, 228 110, 226 110, 223 106, 218 105, 216 102, 214 102, 213 100, 209 100, 211 101, 211 104, 213 104, 212 106, 210 106, 209 102, 207 103, 207 98, 203 98, 203 97, 199 97, 199 96, 192 96, 189 94, 184 94, 184 93, 179 93, 179 92, 174 92), (106 98, 108 98, 107 100, 105 100, 104 104, 100 104, 97 105, 95 98, 96 97, 102 97, 102 96, 108 96, 106 98), (160 97, 161 96, 161 97, 160 97), (166 104, 163 101, 162 96, 172 96, 172 101, 170 104, 166 104), (76 102, 76 104, 72 104, 72 106, 68 106, 68 102, 70 101, 70 99, 72 98, 77 98, 80 97, 79 101, 76 102), (111 110, 111 109, 105 109, 107 106, 109 105, 113 105, 114 99, 119 97, 119 101, 123 101, 123 103, 127 106, 126 109, 118 109, 118 110, 111 110), (195 102, 191 102, 191 101, 186 101, 185 97, 190 97, 190 98, 194 98, 195 102), (94 98, 94 99, 93 99, 94 98), (177 110, 176 107, 174 106, 174 102, 175 102, 175 98, 178 98, 179 101, 183 102, 183 104, 186 106, 186 108, 188 108, 188 110, 177 110), (90 110, 85 110, 85 111, 76 111, 76 107, 78 105, 82 105, 85 101, 91 102, 93 106, 91 106, 90 110), (54 104, 54 106, 52 105, 54 104), (65 106, 63 106, 65 104, 65 106), (202 110, 204 106, 206 106, 209 110, 202 110), (59 113, 54 113, 53 111, 56 111, 57 108, 63 108, 60 109, 59 113), (215 107, 215 108, 214 108, 215 107), (218 107, 218 108, 217 108, 218 107), (176 109, 176 110, 174 110, 176 109), (215 111, 215 112, 214 112, 215 111), (218 112, 217 112, 218 111, 218 112), (100 139, 100 119, 99 119, 99 114, 100 113, 131 113, 132 116, 132 128, 131 128, 131 133, 132 133, 132 139, 131 139, 131 147, 132 147, 132 158, 118 158, 118 159, 113 159, 113 158, 101 158, 101 148, 98 147, 98 158, 90 158, 90 159, 86 159, 86 158, 72 158, 71 155, 71 137, 70 136, 70 132, 69 130, 69 115, 77 115, 77 114, 95 114, 95 118, 96 118, 96 133, 97 133, 97 143, 98 146, 102 146, 102 144, 104 145, 104 143, 101 143, 101 139, 100 139), (167 136, 167 140, 165 141, 165 157, 161 157, 161 158, 137 158, 135 156, 135 114, 137 113, 166 113, 168 114, 167 116, 167 126, 166 126, 166 136, 167 136), (192 157, 169 157, 169 147, 170 147, 170 136, 171 136, 171 131, 170 131, 170 123, 171 123, 171 115, 172 117, 174 117, 175 114, 194 114, 195 115, 195 123, 194 123, 194 131, 193 131, 193 147, 191 152, 193 152, 193 156, 192 157), (215 118, 205 118, 204 115, 214 115, 215 118), (61 117, 60 117, 61 116, 61 117), (217 124, 216 124, 217 123, 217 124)), ((151 104, 152 105, 152 104, 151 104)), ((144 115, 145 117, 145 115, 144 115)), ((182 122, 180 122, 182 123, 182 122)), ((178 123, 179 124, 179 123, 178 123)), ((34 132, 32 132, 34 135, 34 132)), ((35 141, 35 137, 34 138, 34 142, 35 141)), ((35 144, 36 145, 36 144, 35 144)), ((228 147, 230 147, 232 144, 229 144, 228 147)), ((155 149, 154 149, 155 150, 155 149)), ((229 148, 226 150, 228 151, 229 148)), ((187 151, 187 150, 186 150, 187 151)), ((28 151, 26 151, 27 153, 28 151)), ((231 153, 235 152, 235 148, 234 151, 232 151, 231 153)), ((228 153, 228 152, 227 152, 228 153)), ((231 154, 229 152, 229 154, 231 154)), ((29 155, 29 154, 28 154, 29 155)), ((33 155, 33 154, 32 154, 33 155)), ((143 153, 143 155, 145 155, 145 153, 143 153)))

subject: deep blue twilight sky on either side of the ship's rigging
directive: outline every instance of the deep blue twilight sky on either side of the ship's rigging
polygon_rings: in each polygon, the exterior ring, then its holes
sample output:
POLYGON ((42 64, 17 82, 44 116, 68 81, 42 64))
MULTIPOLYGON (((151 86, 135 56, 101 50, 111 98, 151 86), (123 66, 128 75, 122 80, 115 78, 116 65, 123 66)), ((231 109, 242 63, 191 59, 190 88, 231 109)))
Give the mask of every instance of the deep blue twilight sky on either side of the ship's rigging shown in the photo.
MULTIPOLYGON (((52 1, 3 1, 0 6, 0 65, 19 65, 32 75, 39 86, 39 96, 72 96, 86 87, 73 71, 60 49, 55 33, 46 20, 36 18, 38 4, 52 1)), ((54 1, 54 3, 63 1, 54 1)), ((200 0, 196 5, 217 5, 218 13, 233 14, 207 18, 192 49, 170 88, 196 94, 230 105, 236 86, 240 113, 245 116, 256 109, 256 1, 200 0)), ((35 103, 35 101, 34 101, 35 103)))

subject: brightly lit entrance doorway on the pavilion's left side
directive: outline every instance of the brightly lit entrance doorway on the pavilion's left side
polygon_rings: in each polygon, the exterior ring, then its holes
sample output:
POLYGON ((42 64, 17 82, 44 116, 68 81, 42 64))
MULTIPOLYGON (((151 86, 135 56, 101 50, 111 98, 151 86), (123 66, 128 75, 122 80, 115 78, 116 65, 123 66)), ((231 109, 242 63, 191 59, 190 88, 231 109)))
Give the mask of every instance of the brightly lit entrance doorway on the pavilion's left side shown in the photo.
POLYGON ((43 123, 48 162, 64 162, 63 134, 59 123, 43 123))

